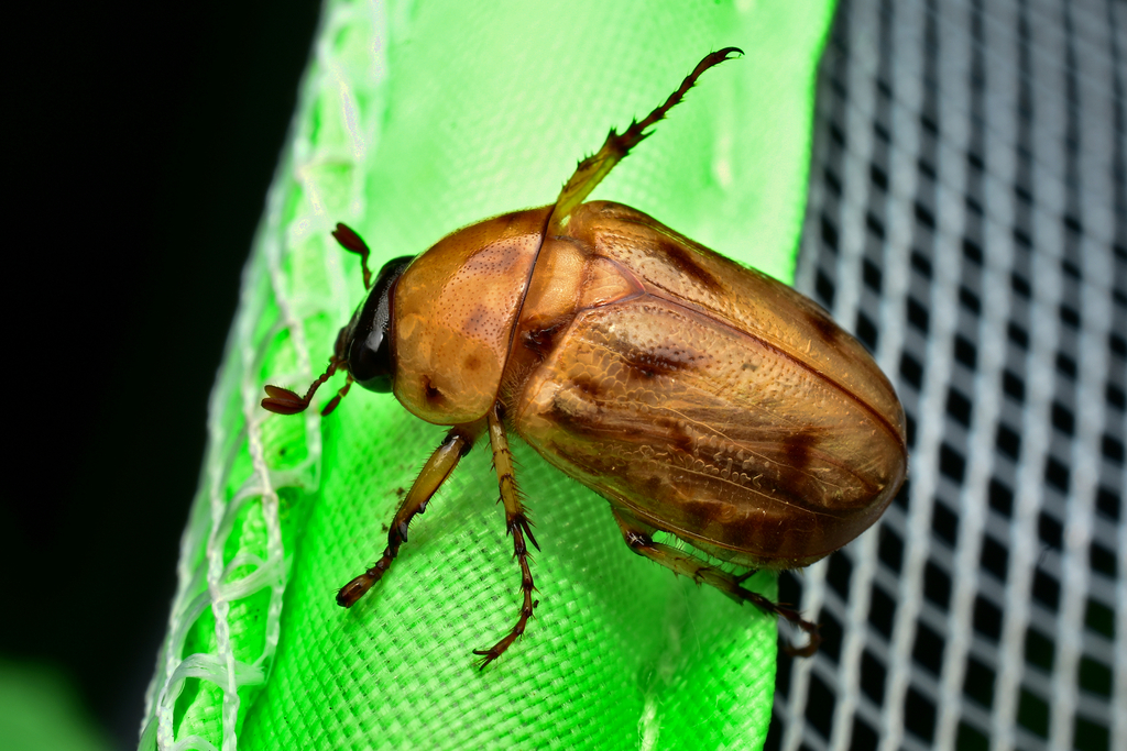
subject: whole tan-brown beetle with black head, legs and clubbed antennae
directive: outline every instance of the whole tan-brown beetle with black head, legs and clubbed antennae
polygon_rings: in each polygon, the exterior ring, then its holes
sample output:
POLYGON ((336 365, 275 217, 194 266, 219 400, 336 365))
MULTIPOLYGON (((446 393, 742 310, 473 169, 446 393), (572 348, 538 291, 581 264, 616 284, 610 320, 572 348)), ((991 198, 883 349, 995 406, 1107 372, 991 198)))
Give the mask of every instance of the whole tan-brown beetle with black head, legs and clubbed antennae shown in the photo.
POLYGON ((579 163, 550 206, 459 230, 394 259, 337 337, 304 396, 267 386, 267 410, 309 406, 338 369, 391 391, 419 418, 452 426, 403 497, 380 561, 337 594, 349 607, 391 566, 407 528, 458 461, 488 433, 523 602, 496 660, 536 602, 508 432, 600 493, 630 548, 737 601, 817 628, 744 589, 657 530, 737 566, 791 569, 838 549, 884 512, 904 481, 904 411, 888 379, 815 303, 628 206, 584 203, 646 128, 709 68, 706 56, 660 107, 579 163))

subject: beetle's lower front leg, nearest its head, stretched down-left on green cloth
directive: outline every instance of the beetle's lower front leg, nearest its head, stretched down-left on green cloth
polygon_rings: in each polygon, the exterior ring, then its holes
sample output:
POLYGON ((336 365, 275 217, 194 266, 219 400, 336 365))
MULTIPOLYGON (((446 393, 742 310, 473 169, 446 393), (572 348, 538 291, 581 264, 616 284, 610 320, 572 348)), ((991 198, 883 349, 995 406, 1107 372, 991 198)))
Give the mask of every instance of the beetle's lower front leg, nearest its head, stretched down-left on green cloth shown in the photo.
POLYGON ((383 574, 391 567, 391 562, 399 554, 399 546, 407 542, 407 527, 411 524, 411 519, 415 518, 415 515, 426 511, 426 504, 431 498, 442 486, 442 483, 446 482, 446 477, 458 466, 458 461, 469 453, 483 427, 481 423, 474 423, 454 426, 450 429, 442 444, 423 466, 423 471, 415 479, 411 489, 403 497, 402 503, 399 504, 399 510, 396 511, 396 516, 391 520, 391 528, 388 530, 388 547, 383 551, 383 556, 374 566, 340 588, 340 591, 337 592, 337 605, 350 608, 367 590, 372 589, 375 582, 383 578, 383 574))

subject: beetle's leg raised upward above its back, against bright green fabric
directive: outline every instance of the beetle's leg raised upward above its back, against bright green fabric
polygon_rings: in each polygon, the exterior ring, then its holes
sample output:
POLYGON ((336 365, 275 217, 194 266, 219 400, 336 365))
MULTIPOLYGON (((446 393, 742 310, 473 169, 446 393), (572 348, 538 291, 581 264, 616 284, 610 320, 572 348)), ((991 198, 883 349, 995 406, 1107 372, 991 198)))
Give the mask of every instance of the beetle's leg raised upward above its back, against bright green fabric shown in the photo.
POLYGON ((591 195, 591 191, 595 189, 600 182, 603 181, 614 166, 622 161, 631 149, 641 143, 645 138, 651 135, 646 133, 646 128, 654 125, 665 115, 673 109, 677 102, 684 99, 685 93, 689 89, 693 88, 704 71, 712 68, 713 65, 719 65, 726 60, 729 60, 730 55, 744 54, 744 51, 739 47, 725 47, 718 52, 710 53, 704 56, 704 60, 696 63, 696 68, 693 72, 685 77, 685 80, 681 82, 681 87, 669 95, 669 98, 665 100, 665 104, 651 111, 641 122, 632 120, 630 127, 622 135, 619 135, 618 131, 611 128, 611 132, 606 135, 606 141, 603 142, 603 147, 598 150, 594 157, 587 157, 579 166, 576 168, 575 173, 564 186, 560 191, 559 198, 556 199, 556 207, 552 209, 552 216, 548 221, 548 233, 559 234, 559 230, 562 227, 567 217, 570 216, 571 212, 584 202, 584 199, 591 195))

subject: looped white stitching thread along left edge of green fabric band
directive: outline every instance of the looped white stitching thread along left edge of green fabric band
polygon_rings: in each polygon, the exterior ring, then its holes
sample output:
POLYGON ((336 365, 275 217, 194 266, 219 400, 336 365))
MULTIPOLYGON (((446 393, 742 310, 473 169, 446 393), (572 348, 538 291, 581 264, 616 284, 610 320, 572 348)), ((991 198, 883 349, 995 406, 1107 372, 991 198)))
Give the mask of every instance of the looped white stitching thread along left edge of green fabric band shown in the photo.
MULTIPOLYGON (((222 705, 222 751, 234 751, 237 748, 236 726, 239 717, 240 687, 256 686, 265 682, 274 652, 278 644, 279 616, 282 596, 285 588, 287 562, 283 549, 279 524, 278 494, 281 486, 316 488, 320 472, 321 435, 318 427, 319 415, 305 415, 305 449, 307 456, 296 466, 284 471, 273 471, 266 459, 267 449, 263 441, 263 422, 267 415, 259 406, 263 397, 263 369, 265 348, 283 331, 289 332, 293 348, 294 369, 289 374, 279 374, 278 378, 299 383, 311 378, 314 369, 311 365, 307 343, 304 323, 310 316, 320 312, 337 319, 347 315, 341 301, 348 296, 341 294, 345 286, 344 272, 336 256, 326 253, 323 238, 328 236, 326 213, 338 214, 344 207, 335 204, 326 206, 321 198, 321 179, 316 173, 316 167, 326 163, 352 163, 356 169, 354 176, 349 208, 356 209, 363 191, 363 159, 367 153, 367 141, 364 129, 357 122, 356 107, 353 104, 354 92, 348 81, 369 82, 378 87, 382 75, 372 74, 382 69, 379 45, 365 44, 365 54, 353 60, 341 60, 334 47, 338 34, 346 29, 358 33, 363 39, 380 38, 373 28, 382 23, 382 14, 373 14, 366 7, 353 7, 347 3, 332 3, 322 14, 322 28, 316 36, 314 60, 309 66, 301 88, 295 125, 309 126, 311 111, 320 108, 322 115, 328 111, 341 113, 345 123, 340 131, 346 134, 346 143, 338 149, 313 149, 308 135, 298 134, 291 137, 290 151, 284 154, 278 168, 279 176, 293 176, 292 179, 276 180, 267 198, 267 211, 259 227, 251 262, 245 271, 245 292, 237 316, 232 337, 228 342, 225 366, 221 370, 221 379, 212 393, 208 409, 208 452, 205 458, 203 482, 197 499, 193 506, 192 518, 181 540, 178 587, 169 618, 169 635, 162 649, 158 672, 150 685, 145 699, 145 719, 141 748, 152 748, 156 743, 160 749, 180 751, 186 749, 203 749, 214 751, 215 745, 199 735, 175 737, 172 713, 177 697, 184 688, 186 679, 199 679, 220 687, 223 691, 222 705), (375 54, 372 54, 372 53, 375 54), (347 66, 357 64, 367 66, 363 73, 343 73, 347 66), (335 107, 327 107, 325 100, 336 97, 339 101, 335 107), (299 211, 304 215, 287 220, 286 203, 294 190, 303 190, 305 202, 299 204, 299 211), (314 239, 311 240, 311 235, 314 239), (308 247, 314 245, 312 249, 308 247), (316 258, 323 259, 328 268, 331 289, 316 298, 295 297, 290 294, 286 276, 282 270, 286 258, 296 249, 309 250, 316 258), (269 315, 272 304, 277 305, 276 322, 272 336, 259 346, 255 336, 256 328, 269 315), (237 405, 241 417, 232 420, 230 411, 237 405), (236 456, 242 449, 243 433, 232 435, 230 424, 243 424, 247 449, 251 457, 252 473, 245 481, 233 498, 225 498, 228 484, 236 456), (227 560, 224 549, 229 543, 232 525, 237 515, 248 503, 258 502, 261 508, 263 522, 266 528, 266 560, 249 552, 240 551, 227 560), (198 552, 204 552, 203 561, 197 558, 198 552), (243 566, 249 566, 249 573, 231 580, 232 573, 243 566), (265 633, 263 634, 261 653, 250 663, 234 658, 234 646, 230 636, 229 614, 233 601, 254 594, 263 588, 269 588, 269 605, 266 611, 265 633), (201 591, 203 590, 203 591, 201 591), (215 652, 206 654, 184 654, 188 632, 197 618, 211 607, 215 617, 215 652)), ((371 92, 364 92, 365 96, 371 92)), ((323 123, 322 123, 323 126, 323 123)), ((329 186, 339 188, 339 186, 329 186)))

